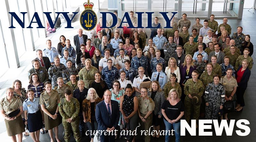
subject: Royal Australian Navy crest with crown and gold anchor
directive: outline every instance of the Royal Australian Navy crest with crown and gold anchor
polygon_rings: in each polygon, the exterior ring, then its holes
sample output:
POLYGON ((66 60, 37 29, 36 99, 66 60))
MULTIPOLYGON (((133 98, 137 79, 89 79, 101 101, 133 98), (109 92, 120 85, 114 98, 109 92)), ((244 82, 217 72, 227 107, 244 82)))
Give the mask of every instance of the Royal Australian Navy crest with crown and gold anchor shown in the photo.
POLYGON ((82 12, 80 16, 80 24, 87 31, 94 29, 97 24, 97 15, 92 10, 93 6, 94 4, 90 3, 90 0, 88 0, 87 3, 85 2, 84 3, 85 10, 82 12))

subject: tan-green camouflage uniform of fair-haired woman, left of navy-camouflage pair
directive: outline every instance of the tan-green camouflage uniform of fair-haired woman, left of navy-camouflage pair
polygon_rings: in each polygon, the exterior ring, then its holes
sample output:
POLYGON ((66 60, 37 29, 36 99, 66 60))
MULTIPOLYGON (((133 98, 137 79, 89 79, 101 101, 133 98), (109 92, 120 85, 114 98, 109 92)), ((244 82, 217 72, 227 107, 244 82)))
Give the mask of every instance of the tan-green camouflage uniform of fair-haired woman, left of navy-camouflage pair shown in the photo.
POLYGON ((78 73, 79 80, 84 81, 84 87, 89 89, 89 85, 95 80, 94 73, 98 71, 96 67, 91 66, 91 69, 88 71, 85 67, 80 70, 78 73))

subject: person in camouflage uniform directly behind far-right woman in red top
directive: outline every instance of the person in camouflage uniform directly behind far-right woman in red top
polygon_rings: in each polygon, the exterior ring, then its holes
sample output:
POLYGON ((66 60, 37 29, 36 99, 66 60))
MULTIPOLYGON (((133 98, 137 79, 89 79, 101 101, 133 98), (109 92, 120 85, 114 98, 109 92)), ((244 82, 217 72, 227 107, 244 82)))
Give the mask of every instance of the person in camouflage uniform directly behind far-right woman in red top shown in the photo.
MULTIPOLYGON (((245 48, 245 49, 246 49, 246 48, 245 48)), ((244 50, 244 55, 238 56, 238 58, 236 59, 236 66, 235 66, 235 69, 236 69, 236 70, 238 69, 238 67, 239 67, 240 65, 242 65, 242 61, 243 61, 244 59, 247 59, 247 61, 249 62, 248 68, 249 68, 250 70, 252 70, 253 59, 252 59, 251 56, 249 56, 249 53, 250 53, 250 52, 249 52, 248 50, 244 50)))

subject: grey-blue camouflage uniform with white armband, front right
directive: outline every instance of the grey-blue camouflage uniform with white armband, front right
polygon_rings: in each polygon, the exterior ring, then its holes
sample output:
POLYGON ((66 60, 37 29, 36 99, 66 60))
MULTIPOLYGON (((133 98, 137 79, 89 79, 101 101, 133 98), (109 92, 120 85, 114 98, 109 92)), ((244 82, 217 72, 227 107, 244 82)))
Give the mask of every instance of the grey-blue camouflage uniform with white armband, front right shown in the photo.
POLYGON ((222 84, 209 83, 205 89, 204 100, 209 103, 209 106, 205 107, 205 119, 218 119, 220 105, 223 106, 225 102, 225 87, 222 84))

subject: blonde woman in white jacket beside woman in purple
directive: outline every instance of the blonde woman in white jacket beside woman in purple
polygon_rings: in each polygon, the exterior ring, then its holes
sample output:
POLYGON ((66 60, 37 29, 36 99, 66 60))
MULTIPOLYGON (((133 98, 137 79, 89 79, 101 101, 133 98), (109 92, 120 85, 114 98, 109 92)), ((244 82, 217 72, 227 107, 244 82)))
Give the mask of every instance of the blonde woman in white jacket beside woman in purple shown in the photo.
POLYGON ((170 81, 170 76, 174 73, 177 76, 177 82, 180 83, 180 68, 176 65, 176 59, 171 57, 168 61, 168 67, 165 68, 165 73, 168 76, 167 82, 170 81))

